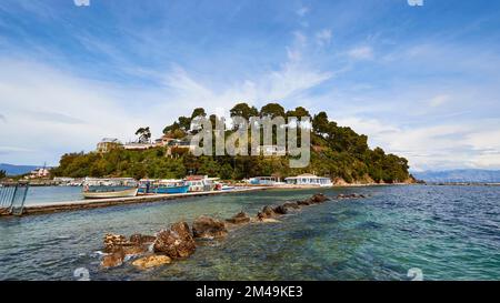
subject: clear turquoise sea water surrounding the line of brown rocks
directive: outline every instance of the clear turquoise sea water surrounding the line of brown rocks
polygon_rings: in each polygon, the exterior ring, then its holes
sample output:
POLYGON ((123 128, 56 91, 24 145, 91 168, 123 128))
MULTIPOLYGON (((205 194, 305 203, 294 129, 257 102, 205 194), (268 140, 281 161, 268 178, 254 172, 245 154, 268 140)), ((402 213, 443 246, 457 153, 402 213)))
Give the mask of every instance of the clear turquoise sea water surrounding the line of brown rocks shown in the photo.
POLYGON ((363 193, 247 225, 188 260, 139 271, 126 264, 100 270, 104 233, 153 233, 200 214, 254 214, 316 193, 273 190, 189 198, 0 220, 0 280, 424 280, 500 279, 500 186, 374 186, 323 190, 363 193))

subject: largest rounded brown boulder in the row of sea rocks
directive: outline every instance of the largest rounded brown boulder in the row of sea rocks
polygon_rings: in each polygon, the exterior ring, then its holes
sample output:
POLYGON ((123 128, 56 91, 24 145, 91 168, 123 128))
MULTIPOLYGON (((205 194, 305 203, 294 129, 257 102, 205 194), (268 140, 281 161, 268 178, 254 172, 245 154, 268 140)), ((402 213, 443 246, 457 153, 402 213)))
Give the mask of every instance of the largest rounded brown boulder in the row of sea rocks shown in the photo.
POLYGON ((187 257, 196 251, 196 243, 188 223, 178 222, 170 230, 160 231, 153 243, 153 250, 171 259, 187 257))

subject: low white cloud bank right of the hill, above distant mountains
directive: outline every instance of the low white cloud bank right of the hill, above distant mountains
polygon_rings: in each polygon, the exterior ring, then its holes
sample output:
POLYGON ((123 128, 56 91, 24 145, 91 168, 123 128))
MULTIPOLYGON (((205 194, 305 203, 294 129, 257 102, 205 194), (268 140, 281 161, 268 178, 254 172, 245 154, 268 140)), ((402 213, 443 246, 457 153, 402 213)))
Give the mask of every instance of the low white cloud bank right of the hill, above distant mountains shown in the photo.
POLYGON ((378 119, 350 117, 337 120, 340 125, 367 134, 370 147, 382 147, 386 152, 406 156, 416 171, 500 169, 500 131, 491 129, 500 121, 401 128, 378 119))

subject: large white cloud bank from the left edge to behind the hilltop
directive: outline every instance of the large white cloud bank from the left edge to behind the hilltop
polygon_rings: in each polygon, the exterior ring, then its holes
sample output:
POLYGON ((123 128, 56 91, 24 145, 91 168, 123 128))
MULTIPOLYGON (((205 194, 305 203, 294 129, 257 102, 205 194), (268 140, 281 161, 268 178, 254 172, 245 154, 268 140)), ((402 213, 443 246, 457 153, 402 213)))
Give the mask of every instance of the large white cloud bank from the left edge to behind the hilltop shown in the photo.
POLYGON ((57 164, 62 153, 93 150, 104 137, 131 140, 142 125, 160 135, 164 125, 196 107, 228 113, 236 102, 258 102, 259 107, 293 101, 331 77, 302 58, 307 37, 300 32, 293 37, 278 69, 220 90, 206 84, 210 79, 200 79, 179 65, 164 73, 141 71, 160 85, 137 90, 82 79, 34 61, 0 58, 0 138, 9 142, 0 148, 2 162, 57 164))

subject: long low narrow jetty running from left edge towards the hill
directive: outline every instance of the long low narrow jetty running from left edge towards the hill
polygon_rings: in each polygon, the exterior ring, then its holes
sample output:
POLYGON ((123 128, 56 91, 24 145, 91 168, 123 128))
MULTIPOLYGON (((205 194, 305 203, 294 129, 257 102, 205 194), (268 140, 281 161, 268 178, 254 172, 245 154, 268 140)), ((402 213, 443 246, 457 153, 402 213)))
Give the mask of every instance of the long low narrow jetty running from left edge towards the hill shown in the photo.
MULTIPOLYGON (((184 198, 196 196, 210 196, 218 194, 241 193, 251 191, 262 191, 271 189, 270 186, 251 186, 251 188, 237 188, 231 191, 209 191, 209 192, 188 192, 179 194, 144 194, 131 198, 112 198, 112 199, 92 199, 92 200, 79 200, 79 201, 66 201, 66 202, 48 202, 42 204, 24 205, 22 209, 22 215, 32 214, 47 214, 56 212, 78 211, 78 210, 91 210, 101 209, 117 205, 130 205, 139 203, 153 203, 164 202, 170 200, 178 200, 184 198)), ((2 212, 0 209, 0 216, 20 215, 12 212, 2 212)))

